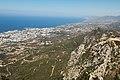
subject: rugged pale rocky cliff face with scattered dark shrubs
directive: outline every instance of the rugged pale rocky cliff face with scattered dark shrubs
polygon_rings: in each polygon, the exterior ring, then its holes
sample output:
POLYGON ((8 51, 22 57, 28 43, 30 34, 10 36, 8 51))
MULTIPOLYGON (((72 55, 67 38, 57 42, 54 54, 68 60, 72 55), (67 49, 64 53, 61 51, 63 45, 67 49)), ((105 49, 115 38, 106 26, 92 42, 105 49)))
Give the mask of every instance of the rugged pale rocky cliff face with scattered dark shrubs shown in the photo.
POLYGON ((63 80, 120 80, 120 36, 94 30, 72 53, 63 80))

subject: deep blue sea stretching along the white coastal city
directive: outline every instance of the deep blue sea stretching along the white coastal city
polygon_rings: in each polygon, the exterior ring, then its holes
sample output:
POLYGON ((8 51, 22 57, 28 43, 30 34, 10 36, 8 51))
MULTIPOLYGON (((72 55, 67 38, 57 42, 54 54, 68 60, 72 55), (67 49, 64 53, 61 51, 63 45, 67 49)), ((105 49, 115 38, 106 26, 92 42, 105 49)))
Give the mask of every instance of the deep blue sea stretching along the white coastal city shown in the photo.
POLYGON ((25 28, 50 28, 84 20, 68 17, 0 16, 0 32, 23 30, 25 28))

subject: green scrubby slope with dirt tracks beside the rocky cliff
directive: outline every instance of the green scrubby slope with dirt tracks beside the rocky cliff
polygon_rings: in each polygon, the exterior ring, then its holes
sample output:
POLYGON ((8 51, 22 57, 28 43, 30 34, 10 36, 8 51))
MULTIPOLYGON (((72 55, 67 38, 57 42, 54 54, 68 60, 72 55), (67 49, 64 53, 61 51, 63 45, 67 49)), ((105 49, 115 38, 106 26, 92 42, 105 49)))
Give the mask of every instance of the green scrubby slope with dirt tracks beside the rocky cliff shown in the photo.
MULTIPOLYGON (((10 80, 61 80, 70 53, 80 45, 84 35, 53 46, 29 50, 29 57, 9 65, 10 80)), ((6 71, 7 74, 9 74, 6 71)))

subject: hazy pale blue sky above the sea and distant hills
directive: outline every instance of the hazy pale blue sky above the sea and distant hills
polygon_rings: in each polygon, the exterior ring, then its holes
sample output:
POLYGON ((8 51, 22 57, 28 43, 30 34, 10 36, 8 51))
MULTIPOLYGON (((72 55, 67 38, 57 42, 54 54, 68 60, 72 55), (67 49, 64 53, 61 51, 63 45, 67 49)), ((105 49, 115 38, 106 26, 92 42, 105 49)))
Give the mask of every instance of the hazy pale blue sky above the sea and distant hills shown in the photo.
POLYGON ((116 16, 120 0, 0 0, 0 15, 116 16))

